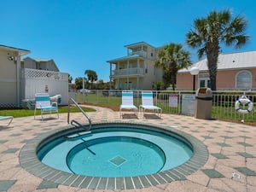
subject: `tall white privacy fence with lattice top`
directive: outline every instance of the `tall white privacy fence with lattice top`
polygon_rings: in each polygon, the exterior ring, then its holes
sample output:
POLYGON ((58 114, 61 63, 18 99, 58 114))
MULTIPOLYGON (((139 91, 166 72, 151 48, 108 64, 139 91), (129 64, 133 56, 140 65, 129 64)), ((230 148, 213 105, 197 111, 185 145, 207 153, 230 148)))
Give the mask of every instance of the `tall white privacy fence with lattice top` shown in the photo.
POLYGON ((21 99, 33 99, 36 93, 61 95, 61 105, 68 104, 68 74, 25 68, 21 71, 21 99))

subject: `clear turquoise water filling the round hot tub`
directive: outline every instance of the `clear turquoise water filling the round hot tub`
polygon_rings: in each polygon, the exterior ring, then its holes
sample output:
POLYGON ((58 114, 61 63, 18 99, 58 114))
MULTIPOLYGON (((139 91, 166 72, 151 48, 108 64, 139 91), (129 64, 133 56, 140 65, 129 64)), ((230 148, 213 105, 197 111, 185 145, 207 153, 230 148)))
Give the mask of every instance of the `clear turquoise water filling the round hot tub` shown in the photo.
POLYGON ((190 159, 192 148, 160 131, 96 128, 49 139, 38 150, 44 164, 92 177, 133 177, 163 172, 190 159))

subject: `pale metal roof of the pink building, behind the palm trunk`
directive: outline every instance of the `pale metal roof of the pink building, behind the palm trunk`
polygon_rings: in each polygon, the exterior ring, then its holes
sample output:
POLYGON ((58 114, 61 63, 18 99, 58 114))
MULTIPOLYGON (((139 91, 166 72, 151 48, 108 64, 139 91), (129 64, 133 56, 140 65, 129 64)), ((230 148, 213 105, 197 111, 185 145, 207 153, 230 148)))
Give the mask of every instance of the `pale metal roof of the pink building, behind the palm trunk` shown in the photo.
MULTIPOLYGON (((188 73, 191 67, 198 67, 200 71, 208 71, 207 59, 197 61, 190 67, 179 70, 178 73, 188 73)), ((256 51, 218 55, 218 70, 245 68, 256 68, 256 51)))

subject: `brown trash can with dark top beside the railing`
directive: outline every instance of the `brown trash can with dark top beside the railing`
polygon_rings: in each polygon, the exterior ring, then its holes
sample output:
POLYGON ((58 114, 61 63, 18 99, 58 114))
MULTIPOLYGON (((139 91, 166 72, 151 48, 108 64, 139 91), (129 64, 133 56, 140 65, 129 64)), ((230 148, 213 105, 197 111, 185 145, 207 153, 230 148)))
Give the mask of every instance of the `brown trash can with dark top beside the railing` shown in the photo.
POLYGON ((212 90, 210 88, 200 88, 195 93, 195 118, 212 118, 212 90))

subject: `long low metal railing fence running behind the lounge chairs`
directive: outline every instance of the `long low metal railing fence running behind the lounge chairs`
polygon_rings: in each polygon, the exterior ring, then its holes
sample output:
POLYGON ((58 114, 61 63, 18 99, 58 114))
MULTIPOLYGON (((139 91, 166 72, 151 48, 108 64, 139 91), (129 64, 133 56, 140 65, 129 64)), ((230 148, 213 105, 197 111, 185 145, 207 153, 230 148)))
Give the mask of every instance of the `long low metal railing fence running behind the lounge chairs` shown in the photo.
MULTIPOLYGON (((134 90, 134 104, 138 107, 142 103, 143 90, 134 90)), ((153 91, 154 104, 163 109, 163 113, 195 115, 195 97, 192 91, 153 91)), ((89 94, 75 94, 76 102, 103 105, 119 108, 121 104, 121 90, 90 90, 89 94)), ((212 94, 212 119, 241 120, 256 122, 256 91, 215 91, 212 94), (253 102, 250 113, 237 112, 235 105, 243 95, 253 102)), ((247 105, 241 108, 248 108, 247 105)), ((199 108, 198 110, 201 110, 199 108)))

